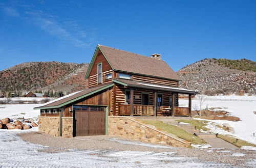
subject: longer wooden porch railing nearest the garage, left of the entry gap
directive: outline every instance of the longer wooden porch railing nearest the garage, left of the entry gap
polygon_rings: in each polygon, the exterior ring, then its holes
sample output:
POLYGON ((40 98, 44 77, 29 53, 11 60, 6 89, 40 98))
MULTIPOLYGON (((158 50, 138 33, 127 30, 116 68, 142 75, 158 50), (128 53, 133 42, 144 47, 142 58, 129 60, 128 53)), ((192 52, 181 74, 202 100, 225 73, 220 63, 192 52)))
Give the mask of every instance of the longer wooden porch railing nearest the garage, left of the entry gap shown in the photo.
MULTIPOLYGON (((133 114, 135 116, 154 116, 154 105, 133 105, 133 114)), ((131 105, 120 104, 119 116, 130 116, 131 105)))

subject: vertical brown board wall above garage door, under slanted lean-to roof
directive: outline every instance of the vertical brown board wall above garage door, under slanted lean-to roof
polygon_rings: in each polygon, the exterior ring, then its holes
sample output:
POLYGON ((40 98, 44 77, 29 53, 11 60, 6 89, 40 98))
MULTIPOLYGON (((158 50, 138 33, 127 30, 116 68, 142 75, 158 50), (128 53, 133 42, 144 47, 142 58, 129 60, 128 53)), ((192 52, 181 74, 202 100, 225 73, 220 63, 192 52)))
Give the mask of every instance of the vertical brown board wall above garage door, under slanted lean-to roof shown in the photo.
POLYGON ((97 94, 93 94, 89 97, 80 99, 76 102, 73 102, 65 107, 64 117, 72 117, 72 112, 69 111, 69 108, 72 109, 72 105, 108 105, 109 109, 112 109, 112 88, 103 90, 97 94))

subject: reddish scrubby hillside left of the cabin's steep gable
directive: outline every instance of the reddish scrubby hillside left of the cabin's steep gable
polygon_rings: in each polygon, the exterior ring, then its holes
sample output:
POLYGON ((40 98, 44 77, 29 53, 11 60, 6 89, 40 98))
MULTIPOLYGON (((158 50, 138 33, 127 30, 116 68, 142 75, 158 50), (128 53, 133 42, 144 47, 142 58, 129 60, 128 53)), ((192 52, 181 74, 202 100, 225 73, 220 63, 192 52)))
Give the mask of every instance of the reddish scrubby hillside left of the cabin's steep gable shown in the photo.
POLYGON ((0 71, 0 90, 73 92, 88 87, 84 79, 89 64, 29 62, 0 71))

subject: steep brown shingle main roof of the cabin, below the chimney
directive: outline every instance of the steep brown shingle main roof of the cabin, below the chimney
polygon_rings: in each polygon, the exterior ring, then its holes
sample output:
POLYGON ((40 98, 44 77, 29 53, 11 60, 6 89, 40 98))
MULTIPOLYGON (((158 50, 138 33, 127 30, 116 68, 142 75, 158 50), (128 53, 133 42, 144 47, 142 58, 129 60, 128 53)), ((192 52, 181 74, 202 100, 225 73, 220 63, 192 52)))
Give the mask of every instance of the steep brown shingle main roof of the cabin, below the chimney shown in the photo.
POLYGON ((99 48, 114 70, 182 80, 163 60, 103 45, 99 48))

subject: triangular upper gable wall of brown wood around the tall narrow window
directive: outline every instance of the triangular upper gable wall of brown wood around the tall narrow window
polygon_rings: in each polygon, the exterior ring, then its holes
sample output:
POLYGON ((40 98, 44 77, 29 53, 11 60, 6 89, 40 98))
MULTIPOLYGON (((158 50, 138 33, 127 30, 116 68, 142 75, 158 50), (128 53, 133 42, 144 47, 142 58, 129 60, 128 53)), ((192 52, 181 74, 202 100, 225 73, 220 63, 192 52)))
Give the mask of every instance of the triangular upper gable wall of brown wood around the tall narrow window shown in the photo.
POLYGON ((98 68, 97 65, 99 63, 102 63, 102 83, 111 82, 111 79, 105 79, 105 75, 112 73, 112 76, 113 76, 113 70, 112 70, 110 64, 108 63, 108 61, 106 61, 102 52, 99 50, 98 54, 96 56, 95 62, 93 64, 91 73, 89 75, 89 88, 97 86, 97 84, 98 84, 97 83, 97 68, 98 68))

